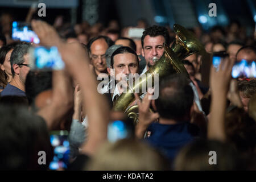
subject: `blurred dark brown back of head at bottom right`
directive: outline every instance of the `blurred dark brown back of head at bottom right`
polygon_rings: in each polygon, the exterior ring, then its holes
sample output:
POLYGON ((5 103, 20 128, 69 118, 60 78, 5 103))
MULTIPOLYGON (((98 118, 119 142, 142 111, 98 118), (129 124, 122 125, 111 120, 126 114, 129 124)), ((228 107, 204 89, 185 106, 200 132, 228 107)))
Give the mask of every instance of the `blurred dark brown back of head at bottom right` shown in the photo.
POLYGON ((217 140, 196 140, 179 152, 175 160, 175 170, 237 170, 241 169, 239 164, 240 161, 237 158, 237 154, 229 144, 221 143, 217 140))

